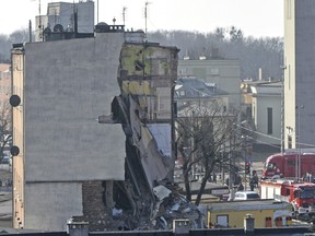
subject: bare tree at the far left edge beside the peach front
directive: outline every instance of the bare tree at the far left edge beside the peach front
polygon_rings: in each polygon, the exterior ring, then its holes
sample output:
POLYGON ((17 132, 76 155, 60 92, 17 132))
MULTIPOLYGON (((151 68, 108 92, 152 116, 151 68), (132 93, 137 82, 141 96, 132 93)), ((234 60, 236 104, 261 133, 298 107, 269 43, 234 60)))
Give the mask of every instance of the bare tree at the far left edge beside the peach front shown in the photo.
POLYGON ((9 102, 1 106, 0 115, 0 162, 4 157, 4 150, 12 141, 11 106, 9 102))

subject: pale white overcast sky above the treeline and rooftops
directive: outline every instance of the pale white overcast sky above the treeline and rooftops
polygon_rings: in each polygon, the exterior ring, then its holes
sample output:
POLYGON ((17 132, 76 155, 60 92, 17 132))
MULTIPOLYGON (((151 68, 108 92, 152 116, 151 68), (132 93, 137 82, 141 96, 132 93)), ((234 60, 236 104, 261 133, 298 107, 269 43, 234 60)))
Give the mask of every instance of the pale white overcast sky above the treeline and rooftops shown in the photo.
MULTIPOLYGON (((81 0, 82 1, 82 0, 81 0)), ((84 0, 86 1, 86 0, 84 0)), ((27 27, 28 20, 46 14, 48 2, 60 0, 0 0, 0 34, 27 27)), ((73 2, 63 0, 62 2, 73 2)), ((79 2, 79 0, 74 0, 79 2)), ((241 28, 244 36, 283 37, 283 0, 94 0, 95 24, 124 24, 126 28, 213 32, 217 27, 241 28), (97 15, 98 2, 98 15, 97 15)))

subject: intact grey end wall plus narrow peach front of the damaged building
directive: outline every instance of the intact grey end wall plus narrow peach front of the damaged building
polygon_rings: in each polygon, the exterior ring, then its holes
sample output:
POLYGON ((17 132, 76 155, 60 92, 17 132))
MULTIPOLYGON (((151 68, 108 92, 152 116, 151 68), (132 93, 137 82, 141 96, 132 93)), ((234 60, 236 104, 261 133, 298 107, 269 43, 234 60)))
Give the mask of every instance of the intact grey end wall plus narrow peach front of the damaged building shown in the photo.
POLYGON ((98 186, 102 199, 103 180, 125 179, 121 126, 97 122, 120 93, 124 42, 124 33, 98 34, 12 49, 13 95, 21 99, 13 106, 20 150, 13 157, 13 227, 62 229, 67 219, 86 211, 86 182, 98 186))

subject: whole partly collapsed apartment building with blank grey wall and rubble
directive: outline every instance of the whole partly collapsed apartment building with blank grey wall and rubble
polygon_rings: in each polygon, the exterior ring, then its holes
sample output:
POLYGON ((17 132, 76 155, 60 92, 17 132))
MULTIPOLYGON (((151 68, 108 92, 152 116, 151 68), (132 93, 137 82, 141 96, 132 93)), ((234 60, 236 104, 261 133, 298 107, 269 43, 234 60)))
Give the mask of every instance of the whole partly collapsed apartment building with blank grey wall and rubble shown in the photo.
POLYGON ((13 45, 13 227, 199 221, 173 182, 178 49, 144 42, 141 31, 96 28, 93 37, 49 32, 49 40, 13 45))

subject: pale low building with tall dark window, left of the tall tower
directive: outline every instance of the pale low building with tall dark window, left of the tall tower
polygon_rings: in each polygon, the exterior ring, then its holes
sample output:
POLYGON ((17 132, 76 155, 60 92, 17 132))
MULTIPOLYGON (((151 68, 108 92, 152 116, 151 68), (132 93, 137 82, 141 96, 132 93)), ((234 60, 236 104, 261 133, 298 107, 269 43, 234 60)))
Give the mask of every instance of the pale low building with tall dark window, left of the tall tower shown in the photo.
POLYGON ((281 145, 281 81, 243 81, 242 106, 244 120, 255 127, 252 137, 257 144, 280 148, 281 145))

